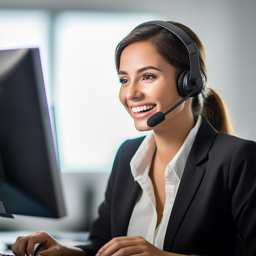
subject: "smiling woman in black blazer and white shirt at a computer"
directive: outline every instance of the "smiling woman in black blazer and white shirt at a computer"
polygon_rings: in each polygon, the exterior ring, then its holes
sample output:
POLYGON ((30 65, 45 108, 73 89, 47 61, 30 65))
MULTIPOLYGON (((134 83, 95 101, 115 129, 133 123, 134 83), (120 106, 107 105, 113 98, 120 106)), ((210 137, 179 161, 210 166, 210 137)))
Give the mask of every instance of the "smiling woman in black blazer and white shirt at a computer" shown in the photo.
POLYGON ((116 50, 119 98, 139 131, 153 131, 119 148, 90 244, 65 247, 38 232, 17 238, 14 254, 32 255, 42 242, 42 256, 256 255, 256 143, 227 134, 225 106, 204 85, 202 43, 170 23, 198 48, 194 97, 149 127, 149 117, 185 97, 180 74, 194 64, 180 38, 162 26, 127 35, 116 50))

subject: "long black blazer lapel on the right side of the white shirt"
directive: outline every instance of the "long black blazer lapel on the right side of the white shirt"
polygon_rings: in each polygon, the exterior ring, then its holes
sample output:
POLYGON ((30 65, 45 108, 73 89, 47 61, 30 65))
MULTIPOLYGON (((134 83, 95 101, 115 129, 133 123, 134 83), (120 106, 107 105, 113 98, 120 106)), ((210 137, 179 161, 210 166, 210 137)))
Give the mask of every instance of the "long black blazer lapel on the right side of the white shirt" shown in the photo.
POLYGON ((164 239, 164 251, 171 251, 175 235, 204 177, 205 169, 198 165, 207 157, 208 151, 216 136, 217 131, 215 131, 207 119, 204 118, 193 147, 188 155, 187 163, 173 204, 164 239))

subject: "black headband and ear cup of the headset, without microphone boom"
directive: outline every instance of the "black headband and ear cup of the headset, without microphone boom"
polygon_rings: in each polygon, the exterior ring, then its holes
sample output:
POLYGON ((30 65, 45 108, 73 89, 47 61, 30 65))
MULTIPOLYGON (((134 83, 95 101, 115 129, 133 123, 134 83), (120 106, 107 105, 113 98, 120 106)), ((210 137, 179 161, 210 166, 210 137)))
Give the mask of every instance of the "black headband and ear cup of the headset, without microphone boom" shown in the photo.
POLYGON ((180 96, 186 97, 189 93, 197 89, 198 86, 198 90, 190 95, 190 97, 195 97, 199 93, 201 93, 205 83, 205 77, 204 74, 200 71, 198 49, 196 47, 196 44, 181 28, 165 21, 148 21, 137 26, 135 29, 146 25, 156 25, 168 30, 173 35, 177 36, 188 50, 190 68, 182 71, 177 81, 177 89, 180 96))

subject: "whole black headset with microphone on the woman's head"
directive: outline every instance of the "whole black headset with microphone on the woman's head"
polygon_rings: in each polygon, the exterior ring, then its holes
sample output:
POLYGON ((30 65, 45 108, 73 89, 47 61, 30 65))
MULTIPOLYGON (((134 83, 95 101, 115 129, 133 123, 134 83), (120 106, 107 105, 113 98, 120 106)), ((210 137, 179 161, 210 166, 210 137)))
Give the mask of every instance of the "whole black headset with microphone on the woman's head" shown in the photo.
POLYGON ((190 62, 190 68, 183 70, 177 79, 177 90, 182 99, 165 113, 158 111, 153 116, 149 117, 147 125, 149 127, 154 127, 163 122, 165 115, 177 108, 183 101, 187 100, 189 97, 195 97, 200 94, 205 84, 205 76, 199 67, 198 49, 196 44, 191 40, 187 33, 185 33, 185 31, 172 23, 159 20, 144 22, 135 27, 133 30, 146 25, 156 25, 162 27, 171 34, 177 36, 186 46, 190 62))

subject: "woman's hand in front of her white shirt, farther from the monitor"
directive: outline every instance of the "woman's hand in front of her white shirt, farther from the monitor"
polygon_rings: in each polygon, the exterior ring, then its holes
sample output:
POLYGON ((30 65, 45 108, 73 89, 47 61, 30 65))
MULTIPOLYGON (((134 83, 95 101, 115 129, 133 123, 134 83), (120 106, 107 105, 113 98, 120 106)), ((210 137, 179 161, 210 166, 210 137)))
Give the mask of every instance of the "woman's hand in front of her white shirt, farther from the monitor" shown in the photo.
POLYGON ((141 236, 123 236, 111 239, 103 245, 96 256, 171 256, 178 255, 165 252, 150 244, 141 236))

